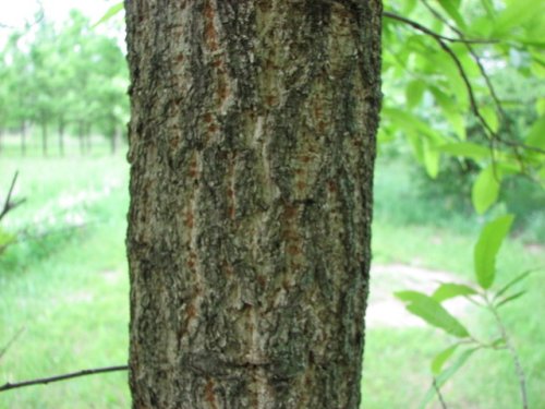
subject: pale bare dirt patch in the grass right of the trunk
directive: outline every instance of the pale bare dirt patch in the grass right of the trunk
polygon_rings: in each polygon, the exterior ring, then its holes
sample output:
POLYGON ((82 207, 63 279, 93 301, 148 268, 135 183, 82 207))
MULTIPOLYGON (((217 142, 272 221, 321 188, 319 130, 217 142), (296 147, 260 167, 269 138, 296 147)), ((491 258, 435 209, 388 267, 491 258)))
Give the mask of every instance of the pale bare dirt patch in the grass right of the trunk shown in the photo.
MULTIPOLYGON (((414 327, 425 326, 424 321, 409 313, 403 303, 393 297, 401 290, 416 290, 433 293, 439 282, 463 282, 452 273, 431 270, 403 264, 374 265, 371 268, 371 290, 366 312, 366 326, 414 327)), ((471 303, 456 298, 444 303, 453 315, 467 314, 471 303)))

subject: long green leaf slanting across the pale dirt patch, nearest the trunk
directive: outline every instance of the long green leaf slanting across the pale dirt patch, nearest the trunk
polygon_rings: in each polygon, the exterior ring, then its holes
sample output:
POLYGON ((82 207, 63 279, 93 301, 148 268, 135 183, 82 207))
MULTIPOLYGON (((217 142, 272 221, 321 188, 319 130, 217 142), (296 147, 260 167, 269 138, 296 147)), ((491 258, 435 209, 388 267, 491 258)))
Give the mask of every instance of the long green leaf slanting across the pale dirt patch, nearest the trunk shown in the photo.
POLYGON ((441 328, 459 338, 470 336, 468 329, 432 297, 417 291, 399 291, 395 296, 408 303, 405 305, 408 311, 420 316, 429 325, 441 328))

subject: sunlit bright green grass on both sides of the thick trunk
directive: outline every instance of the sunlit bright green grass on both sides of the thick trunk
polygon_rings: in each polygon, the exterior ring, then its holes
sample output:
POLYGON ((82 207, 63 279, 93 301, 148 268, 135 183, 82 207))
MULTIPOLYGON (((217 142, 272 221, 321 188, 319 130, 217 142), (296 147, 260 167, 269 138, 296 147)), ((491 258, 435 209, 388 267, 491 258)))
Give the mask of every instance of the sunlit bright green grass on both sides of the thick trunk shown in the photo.
MULTIPOLYGON (((399 166, 378 166, 374 262, 471 278, 472 246, 483 220, 423 203, 399 166)), ((7 189, 15 169, 19 194, 28 201, 9 214, 3 226, 56 232, 16 244, 0 257, 0 347, 25 328, 0 360, 0 384, 126 362, 124 159, 0 157, 0 190, 7 189), (74 220, 84 227, 68 227, 74 220)), ((544 263, 544 255, 529 250, 524 240, 510 240, 501 251, 498 281, 544 263)), ((543 282, 543 274, 530 277, 529 293, 502 311, 526 370, 532 408, 544 407, 538 400, 545 385, 543 282)), ((471 317, 470 324, 480 334, 494 333, 485 315, 471 317)), ((416 408, 431 382, 431 359, 450 341, 431 328, 368 329, 362 407, 416 408)), ((521 407, 512 364, 504 352, 476 354, 446 387, 445 398, 450 409, 521 407)), ((0 408, 74 407, 130 407, 126 373, 0 394, 0 408)))

